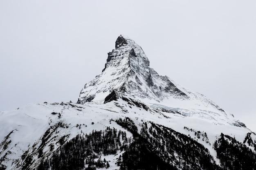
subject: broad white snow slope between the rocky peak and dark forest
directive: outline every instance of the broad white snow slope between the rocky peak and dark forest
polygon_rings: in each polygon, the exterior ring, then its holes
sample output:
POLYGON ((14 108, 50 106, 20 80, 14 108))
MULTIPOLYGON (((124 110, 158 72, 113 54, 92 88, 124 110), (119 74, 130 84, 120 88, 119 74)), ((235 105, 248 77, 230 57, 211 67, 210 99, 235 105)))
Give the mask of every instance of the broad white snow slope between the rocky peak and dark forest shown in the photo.
MULTIPOLYGON (((117 125, 115 121, 110 123, 111 119, 124 119, 125 117, 129 117, 135 122, 138 131, 140 131, 143 122, 152 121, 155 124, 161 124, 182 134, 189 135, 209 149, 216 162, 218 162, 218 159, 212 146, 221 133, 243 142, 247 133, 250 132, 247 128, 232 126, 225 121, 220 123, 220 120, 202 119, 200 113, 198 113, 198 117, 190 117, 145 106, 146 109, 135 104, 128 104, 123 99, 118 99, 118 101, 106 104, 95 102, 87 102, 84 105, 73 103, 29 104, 18 110, 1 112, 0 129, 2 129, 2 132, 0 133, 0 140, 2 143, 0 145, 0 157, 2 164, 7 166, 7 169, 15 169, 15 167, 22 165, 22 159, 20 158, 24 153, 32 154, 34 152, 33 164, 36 167, 40 162, 38 151, 41 148, 43 155, 51 155, 53 150, 61 146, 60 139, 68 141, 78 134, 86 135, 91 133, 92 130, 104 130, 108 126, 126 131, 127 136, 132 137, 130 132, 117 125), (57 114, 53 115, 53 113, 57 114), (58 113, 61 113, 60 117, 58 113), (44 141, 43 138, 47 130, 50 135, 44 141), (205 140, 204 137, 198 139, 195 135, 197 131, 207 133, 208 139, 205 140), (53 150, 50 151, 52 146, 53 150)), ((255 135, 252 137, 254 140, 256 139, 255 135)), ((254 149, 252 146, 248 147, 254 149)), ((110 165, 116 167, 115 164, 110 165)))

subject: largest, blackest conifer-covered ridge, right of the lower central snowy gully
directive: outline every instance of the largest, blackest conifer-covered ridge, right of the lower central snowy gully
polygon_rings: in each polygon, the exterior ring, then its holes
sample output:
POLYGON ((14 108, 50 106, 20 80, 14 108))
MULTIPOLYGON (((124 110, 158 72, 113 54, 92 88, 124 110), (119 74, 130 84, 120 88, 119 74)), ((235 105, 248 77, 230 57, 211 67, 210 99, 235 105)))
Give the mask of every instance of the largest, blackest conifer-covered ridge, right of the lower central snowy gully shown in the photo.
POLYGON ((171 128, 145 122, 139 135, 137 127, 133 128, 135 124, 131 119, 118 119, 117 123, 127 128, 134 136, 134 141, 123 155, 121 170, 221 169, 207 148, 171 128))

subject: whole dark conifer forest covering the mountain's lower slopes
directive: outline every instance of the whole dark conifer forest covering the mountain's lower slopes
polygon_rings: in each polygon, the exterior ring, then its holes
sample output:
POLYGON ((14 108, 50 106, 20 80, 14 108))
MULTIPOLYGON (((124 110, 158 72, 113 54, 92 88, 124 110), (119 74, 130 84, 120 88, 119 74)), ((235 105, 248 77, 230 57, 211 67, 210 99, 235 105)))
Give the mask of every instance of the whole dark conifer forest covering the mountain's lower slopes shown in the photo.
POLYGON ((133 136, 127 138, 125 131, 110 127, 77 135, 42 161, 38 170, 107 169, 110 160, 102 160, 101 156, 118 151, 125 151, 116 162, 120 170, 256 170, 255 153, 227 135, 221 134, 213 146, 221 161, 219 166, 207 148, 171 128, 148 121, 138 132, 128 117, 116 122, 133 136))

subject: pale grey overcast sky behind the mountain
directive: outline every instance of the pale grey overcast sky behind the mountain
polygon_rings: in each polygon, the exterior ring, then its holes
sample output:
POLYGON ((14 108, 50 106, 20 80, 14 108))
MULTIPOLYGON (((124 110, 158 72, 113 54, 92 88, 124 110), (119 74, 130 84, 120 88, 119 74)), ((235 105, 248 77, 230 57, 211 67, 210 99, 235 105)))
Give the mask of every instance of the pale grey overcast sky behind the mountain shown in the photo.
POLYGON ((256 1, 1 0, 0 110, 76 102, 120 34, 256 131, 256 1))

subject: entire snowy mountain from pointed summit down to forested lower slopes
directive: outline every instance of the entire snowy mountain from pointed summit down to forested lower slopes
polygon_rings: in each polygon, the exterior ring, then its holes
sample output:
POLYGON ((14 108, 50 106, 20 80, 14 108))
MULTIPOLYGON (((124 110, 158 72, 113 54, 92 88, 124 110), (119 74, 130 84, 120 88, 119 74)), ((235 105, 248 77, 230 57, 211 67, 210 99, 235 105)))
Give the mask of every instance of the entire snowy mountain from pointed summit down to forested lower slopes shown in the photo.
POLYGON ((256 170, 256 133, 120 35, 77 103, 0 112, 0 170, 256 170))

